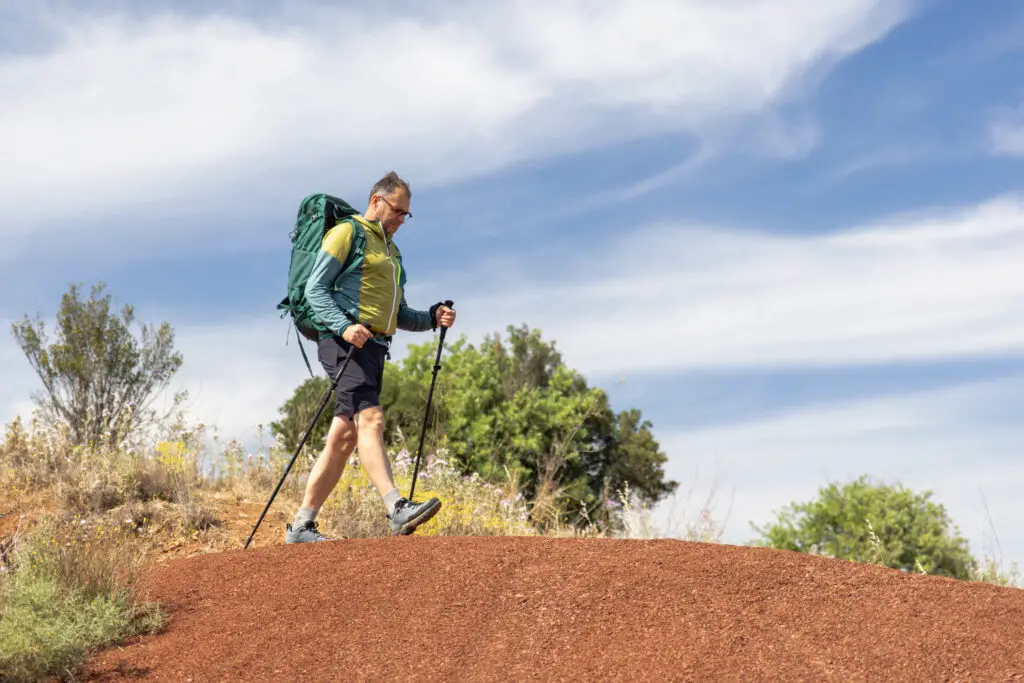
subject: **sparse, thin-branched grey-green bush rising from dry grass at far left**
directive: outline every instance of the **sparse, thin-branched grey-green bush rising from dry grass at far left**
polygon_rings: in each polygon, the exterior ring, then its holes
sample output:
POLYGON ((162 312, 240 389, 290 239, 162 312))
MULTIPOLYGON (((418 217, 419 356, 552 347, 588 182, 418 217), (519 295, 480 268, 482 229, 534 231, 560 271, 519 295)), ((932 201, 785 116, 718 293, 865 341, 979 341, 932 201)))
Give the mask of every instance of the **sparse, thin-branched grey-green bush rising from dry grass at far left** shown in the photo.
MULTIPOLYGON (((130 329, 134 308, 125 305, 116 314, 104 289, 103 283, 94 285, 83 301, 78 286, 71 286, 60 298, 52 344, 38 315, 11 326, 42 380, 43 391, 33 399, 43 417, 67 424, 75 443, 93 447, 116 445, 156 421, 152 402, 182 362, 170 325, 140 324, 136 339, 130 329)), ((175 394, 174 405, 184 396, 175 394)))

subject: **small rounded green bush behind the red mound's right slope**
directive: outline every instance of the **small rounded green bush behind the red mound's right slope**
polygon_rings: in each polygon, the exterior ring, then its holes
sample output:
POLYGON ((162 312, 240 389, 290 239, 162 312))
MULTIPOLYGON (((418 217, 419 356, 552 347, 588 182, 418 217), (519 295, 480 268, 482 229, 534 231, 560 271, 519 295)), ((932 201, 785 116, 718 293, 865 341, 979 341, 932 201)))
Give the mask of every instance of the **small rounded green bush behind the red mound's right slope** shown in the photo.
POLYGON ((773 523, 752 525, 760 533, 755 545, 969 579, 976 562, 968 542, 931 496, 866 476, 830 483, 816 500, 776 513, 773 523))

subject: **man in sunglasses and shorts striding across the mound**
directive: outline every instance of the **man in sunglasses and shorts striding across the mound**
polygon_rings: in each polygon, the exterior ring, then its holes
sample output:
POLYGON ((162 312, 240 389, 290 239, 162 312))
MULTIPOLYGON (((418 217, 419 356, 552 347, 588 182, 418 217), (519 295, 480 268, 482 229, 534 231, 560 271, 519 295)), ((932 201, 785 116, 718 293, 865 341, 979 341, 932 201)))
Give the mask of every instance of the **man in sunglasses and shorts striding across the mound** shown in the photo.
POLYGON ((409 183, 393 171, 377 181, 362 215, 343 220, 327 232, 306 284, 313 313, 330 330, 318 342, 324 370, 334 377, 349 350, 352 357, 338 380, 327 443, 309 473, 302 507, 288 524, 286 543, 331 540, 317 529, 316 514, 355 446, 384 501, 393 533, 412 533, 440 509, 436 498, 413 503, 398 493, 384 452, 380 389, 391 336, 397 330, 424 332, 455 323, 455 311, 441 303, 429 310, 416 310, 406 303, 406 270, 392 238, 412 216, 411 199, 409 183), (366 238, 364 254, 342 274, 356 230, 366 238))

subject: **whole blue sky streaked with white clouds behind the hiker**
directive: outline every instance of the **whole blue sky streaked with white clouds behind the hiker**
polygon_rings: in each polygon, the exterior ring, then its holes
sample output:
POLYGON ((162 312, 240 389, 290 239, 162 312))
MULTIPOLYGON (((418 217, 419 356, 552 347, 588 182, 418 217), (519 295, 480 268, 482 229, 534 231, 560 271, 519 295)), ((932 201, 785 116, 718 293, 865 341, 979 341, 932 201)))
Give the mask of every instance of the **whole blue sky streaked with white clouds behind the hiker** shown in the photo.
POLYGON ((1024 562, 1024 4, 0 0, 0 323, 104 282, 222 437, 308 377, 299 201, 393 169, 410 303, 640 409, 666 528, 868 475, 1024 562))

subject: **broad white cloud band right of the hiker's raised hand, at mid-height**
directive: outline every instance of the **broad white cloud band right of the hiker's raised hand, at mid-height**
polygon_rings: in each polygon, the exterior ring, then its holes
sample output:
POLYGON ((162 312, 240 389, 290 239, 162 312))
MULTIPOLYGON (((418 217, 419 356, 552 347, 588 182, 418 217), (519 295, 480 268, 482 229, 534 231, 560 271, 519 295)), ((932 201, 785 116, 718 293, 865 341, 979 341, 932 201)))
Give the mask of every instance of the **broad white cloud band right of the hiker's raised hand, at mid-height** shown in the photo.
POLYGON ((526 322, 595 376, 1024 351, 1010 198, 831 233, 666 224, 546 249, 452 291, 474 329, 526 322))

